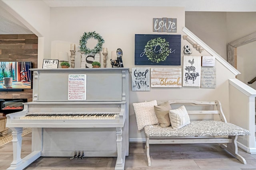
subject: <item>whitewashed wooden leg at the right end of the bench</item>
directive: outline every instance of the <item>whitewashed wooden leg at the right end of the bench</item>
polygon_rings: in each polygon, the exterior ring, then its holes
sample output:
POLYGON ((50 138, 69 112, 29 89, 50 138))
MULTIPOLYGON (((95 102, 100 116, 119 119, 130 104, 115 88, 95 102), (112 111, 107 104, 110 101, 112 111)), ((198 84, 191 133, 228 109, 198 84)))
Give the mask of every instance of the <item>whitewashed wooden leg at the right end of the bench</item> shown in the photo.
POLYGON ((240 154, 238 154, 238 148, 236 143, 238 136, 228 136, 228 137, 232 139, 232 143, 228 143, 227 146, 221 144, 220 147, 228 150, 228 152, 230 152, 233 156, 235 156, 240 162, 242 162, 243 164, 246 164, 246 160, 240 154))

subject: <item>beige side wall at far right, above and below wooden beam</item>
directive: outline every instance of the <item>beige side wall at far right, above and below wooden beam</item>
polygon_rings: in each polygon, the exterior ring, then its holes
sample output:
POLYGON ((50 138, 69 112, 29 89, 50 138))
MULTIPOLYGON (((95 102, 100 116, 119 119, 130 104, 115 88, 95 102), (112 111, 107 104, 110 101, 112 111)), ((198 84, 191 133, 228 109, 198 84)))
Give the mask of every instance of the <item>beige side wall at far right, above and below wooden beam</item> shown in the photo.
MULTIPOLYGON (((256 32, 255 18, 256 12, 228 12, 227 42, 229 43, 256 32)), ((237 70, 241 72, 237 78, 245 84, 256 76, 255 45, 256 41, 237 48, 237 70)), ((248 85, 256 89, 256 82, 248 85)))

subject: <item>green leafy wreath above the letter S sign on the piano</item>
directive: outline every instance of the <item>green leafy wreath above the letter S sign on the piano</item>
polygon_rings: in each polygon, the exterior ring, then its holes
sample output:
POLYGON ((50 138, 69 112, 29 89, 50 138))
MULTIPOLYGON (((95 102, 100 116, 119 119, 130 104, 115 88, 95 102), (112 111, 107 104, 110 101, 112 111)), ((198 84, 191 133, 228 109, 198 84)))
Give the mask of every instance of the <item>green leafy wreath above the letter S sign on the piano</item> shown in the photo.
POLYGON ((81 37, 80 41, 79 41, 79 48, 80 48, 80 51, 82 53, 85 53, 85 54, 90 54, 90 53, 98 53, 99 51, 101 51, 102 49, 102 44, 104 43, 104 39, 102 38, 102 36, 100 36, 100 34, 96 33, 95 31, 93 32, 84 32, 84 35, 81 37), (96 40, 98 40, 98 43, 96 44, 96 46, 94 47, 94 49, 90 49, 90 48, 87 48, 86 47, 86 44, 87 44, 87 41, 88 39, 90 38, 94 38, 96 40))

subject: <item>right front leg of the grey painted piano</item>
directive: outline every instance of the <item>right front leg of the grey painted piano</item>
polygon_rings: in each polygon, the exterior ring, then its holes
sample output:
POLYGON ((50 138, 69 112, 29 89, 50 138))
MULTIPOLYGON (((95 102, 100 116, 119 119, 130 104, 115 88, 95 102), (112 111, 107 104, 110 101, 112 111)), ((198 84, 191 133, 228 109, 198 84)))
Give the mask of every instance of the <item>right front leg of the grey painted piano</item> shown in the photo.
POLYGON ((122 152, 122 128, 116 128, 117 159, 115 170, 124 170, 125 152, 122 152))

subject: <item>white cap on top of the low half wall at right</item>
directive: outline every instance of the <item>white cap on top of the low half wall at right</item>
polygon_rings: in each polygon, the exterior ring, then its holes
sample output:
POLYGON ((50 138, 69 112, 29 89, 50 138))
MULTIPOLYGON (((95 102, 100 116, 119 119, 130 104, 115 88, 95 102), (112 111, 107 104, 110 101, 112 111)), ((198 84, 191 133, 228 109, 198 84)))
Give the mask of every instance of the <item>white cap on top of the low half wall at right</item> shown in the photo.
POLYGON ((256 90, 244 84, 238 79, 228 79, 228 83, 238 89, 240 92, 244 93, 248 97, 256 97, 256 90))

